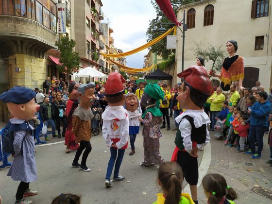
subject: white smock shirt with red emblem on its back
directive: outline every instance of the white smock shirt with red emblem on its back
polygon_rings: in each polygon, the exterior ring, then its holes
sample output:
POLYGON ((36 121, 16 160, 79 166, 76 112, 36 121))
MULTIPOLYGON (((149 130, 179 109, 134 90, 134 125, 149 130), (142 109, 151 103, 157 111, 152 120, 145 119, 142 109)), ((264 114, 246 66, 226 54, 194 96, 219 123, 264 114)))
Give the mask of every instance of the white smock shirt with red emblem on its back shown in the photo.
POLYGON ((128 142, 129 132, 129 113, 123 106, 108 106, 102 113, 103 126, 102 135, 107 146, 111 146, 111 139, 119 138, 116 143, 118 149, 121 149, 128 142))

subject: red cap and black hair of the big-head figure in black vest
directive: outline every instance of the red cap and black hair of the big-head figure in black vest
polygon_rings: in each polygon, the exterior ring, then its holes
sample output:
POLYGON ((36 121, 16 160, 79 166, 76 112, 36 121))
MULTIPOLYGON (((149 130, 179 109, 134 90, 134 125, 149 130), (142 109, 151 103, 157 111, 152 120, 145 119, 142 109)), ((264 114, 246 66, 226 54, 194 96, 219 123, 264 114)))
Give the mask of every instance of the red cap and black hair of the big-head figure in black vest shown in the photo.
POLYGON ((184 79, 184 88, 189 87, 191 101, 203 108, 212 92, 212 84, 207 70, 204 67, 193 65, 179 73, 178 77, 184 79))

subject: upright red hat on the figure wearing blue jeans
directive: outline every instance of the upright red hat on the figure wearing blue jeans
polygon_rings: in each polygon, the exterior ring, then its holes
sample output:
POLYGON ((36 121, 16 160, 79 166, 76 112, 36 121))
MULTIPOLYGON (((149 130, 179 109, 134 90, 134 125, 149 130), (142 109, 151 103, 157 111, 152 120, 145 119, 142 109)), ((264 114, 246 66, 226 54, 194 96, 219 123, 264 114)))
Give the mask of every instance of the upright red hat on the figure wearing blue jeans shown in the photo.
POLYGON ((125 92, 123 84, 126 80, 118 72, 113 72, 108 76, 106 86, 105 86, 105 95, 108 96, 118 96, 125 92))

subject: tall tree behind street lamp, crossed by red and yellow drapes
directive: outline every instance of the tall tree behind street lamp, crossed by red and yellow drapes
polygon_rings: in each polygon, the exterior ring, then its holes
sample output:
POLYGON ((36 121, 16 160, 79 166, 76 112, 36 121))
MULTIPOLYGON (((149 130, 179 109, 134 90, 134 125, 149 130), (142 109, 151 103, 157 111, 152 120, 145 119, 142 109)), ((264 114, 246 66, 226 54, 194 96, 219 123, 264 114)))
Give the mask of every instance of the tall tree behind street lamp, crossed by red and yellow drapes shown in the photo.
MULTIPOLYGON (((192 3, 192 2, 197 2, 200 0, 170 0, 170 1, 171 1, 171 4, 172 4, 175 14, 177 14, 177 10, 181 5, 185 5, 185 4, 192 3)), ((146 33, 148 36, 148 40, 147 40, 148 42, 153 40, 154 38, 158 37, 159 35, 161 35, 161 33, 159 33, 157 31, 161 27, 161 23, 170 23, 168 18, 160 10, 156 1, 151 0, 151 3, 153 5, 153 7, 155 8, 157 15, 156 15, 156 18, 149 21, 149 28, 146 33)), ((168 29, 172 28, 173 25, 165 25, 164 27, 166 28, 166 30, 168 30, 168 29)), ((171 54, 175 53, 172 50, 166 50, 166 37, 164 39, 162 39, 161 41, 159 41, 158 43, 156 43, 155 45, 153 45, 151 47, 151 51, 153 53, 157 53, 158 55, 161 55, 162 58, 165 60, 168 59, 171 54)))

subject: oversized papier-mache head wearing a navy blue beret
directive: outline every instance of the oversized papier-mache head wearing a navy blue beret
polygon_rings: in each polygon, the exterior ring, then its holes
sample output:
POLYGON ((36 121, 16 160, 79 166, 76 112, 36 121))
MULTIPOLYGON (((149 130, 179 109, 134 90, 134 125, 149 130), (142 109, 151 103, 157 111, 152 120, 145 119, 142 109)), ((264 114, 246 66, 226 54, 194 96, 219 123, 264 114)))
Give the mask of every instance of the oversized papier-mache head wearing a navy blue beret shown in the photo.
POLYGON ((10 113, 17 119, 29 120, 35 116, 40 105, 35 104, 36 92, 31 88, 16 86, 0 95, 10 113))

